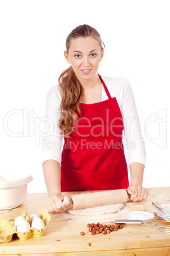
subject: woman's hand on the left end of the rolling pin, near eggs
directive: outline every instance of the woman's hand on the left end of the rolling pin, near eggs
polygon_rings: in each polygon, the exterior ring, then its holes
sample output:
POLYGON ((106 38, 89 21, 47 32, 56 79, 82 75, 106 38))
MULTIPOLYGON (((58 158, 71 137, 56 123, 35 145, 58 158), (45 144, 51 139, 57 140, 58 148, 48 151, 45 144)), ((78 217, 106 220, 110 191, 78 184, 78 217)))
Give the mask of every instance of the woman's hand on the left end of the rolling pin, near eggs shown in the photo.
POLYGON ((69 203, 69 197, 63 196, 62 194, 55 194, 53 196, 49 196, 42 207, 47 213, 55 214, 65 210, 65 206, 69 203))

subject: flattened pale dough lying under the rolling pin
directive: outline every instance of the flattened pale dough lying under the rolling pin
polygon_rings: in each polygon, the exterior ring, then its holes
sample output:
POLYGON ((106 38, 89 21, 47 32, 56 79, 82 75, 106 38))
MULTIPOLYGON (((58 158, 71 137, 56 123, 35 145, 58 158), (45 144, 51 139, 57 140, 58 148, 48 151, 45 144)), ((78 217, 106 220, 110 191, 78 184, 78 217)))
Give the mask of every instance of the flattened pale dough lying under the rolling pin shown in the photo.
POLYGON ((105 213, 117 213, 117 211, 121 211, 123 207, 124 204, 108 204, 82 210, 68 210, 68 212, 74 215, 100 215, 105 213))

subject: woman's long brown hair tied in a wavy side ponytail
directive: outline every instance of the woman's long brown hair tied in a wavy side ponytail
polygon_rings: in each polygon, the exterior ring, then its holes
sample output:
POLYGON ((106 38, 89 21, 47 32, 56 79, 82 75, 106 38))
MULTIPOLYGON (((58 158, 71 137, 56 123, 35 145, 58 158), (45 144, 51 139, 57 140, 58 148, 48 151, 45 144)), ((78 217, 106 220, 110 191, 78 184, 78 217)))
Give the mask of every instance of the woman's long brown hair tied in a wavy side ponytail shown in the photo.
MULTIPOLYGON (((89 25, 79 25, 70 32, 66 40, 66 50, 69 52, 70 43, 72 39, 91 36, 96 39, 100 45, 101 50, 105 48, 103 41, 101 41, 100 34, 94 27, 89 25), (104 46, 104 47, 103 47, 104 46)), ((62 118, 58 123, 58 127, 63 132, 65 137, 69 137, 72 132, 73 122, 77 122, 78 114, 80 113, 79 105, 81 103, 82 86, 77 76, 75 76, 72 66, 62 72, 58 78, 58 83, 62 92, 62 102, 60 104, 60 111, 62 118)))

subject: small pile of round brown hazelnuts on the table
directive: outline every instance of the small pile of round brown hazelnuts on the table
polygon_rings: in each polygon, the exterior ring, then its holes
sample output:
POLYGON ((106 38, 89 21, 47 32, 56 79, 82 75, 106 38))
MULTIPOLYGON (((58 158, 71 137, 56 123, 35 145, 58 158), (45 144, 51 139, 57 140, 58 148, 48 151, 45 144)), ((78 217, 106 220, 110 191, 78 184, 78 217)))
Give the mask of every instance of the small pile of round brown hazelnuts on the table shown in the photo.
MULTIPOLYGON (((109 234, 112 231, 117 231, 118 229, 122 229, 123 225, 122 224, 108 224, 108 225, 102 225, 99 222, 97 224, 88 224, 87 227, 89 227, 89 232, 91 232, 92 235, 95 234, 109 234)), ((81 236, 84 236, 84 232, 82 231, 81 236)))

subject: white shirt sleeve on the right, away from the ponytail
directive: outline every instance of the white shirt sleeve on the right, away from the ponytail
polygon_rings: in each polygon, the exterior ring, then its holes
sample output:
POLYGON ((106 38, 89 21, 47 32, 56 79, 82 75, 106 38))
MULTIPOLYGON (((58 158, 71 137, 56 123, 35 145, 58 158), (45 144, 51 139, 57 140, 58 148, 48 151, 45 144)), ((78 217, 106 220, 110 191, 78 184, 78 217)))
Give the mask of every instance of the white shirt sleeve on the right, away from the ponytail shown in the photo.
POLYGON ((140 162, 145 166, 146 152, 140 120, 136 110, 131 85, 124 78, 119 78, 119 104, 124 122, 124 136, 128 150, 128 164, 140 162))

